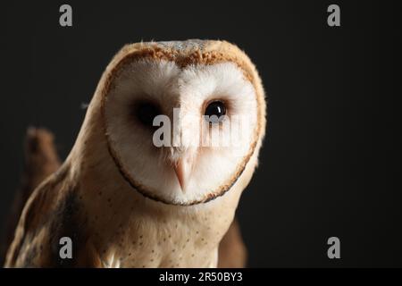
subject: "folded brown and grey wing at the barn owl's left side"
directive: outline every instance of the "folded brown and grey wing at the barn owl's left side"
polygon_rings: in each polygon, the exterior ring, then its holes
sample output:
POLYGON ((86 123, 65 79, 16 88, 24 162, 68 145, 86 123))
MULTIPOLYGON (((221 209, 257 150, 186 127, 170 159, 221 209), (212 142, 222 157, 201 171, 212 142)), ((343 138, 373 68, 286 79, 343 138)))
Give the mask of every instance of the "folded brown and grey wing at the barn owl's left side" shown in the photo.
POLYGON ((6 267, 102 266, 69 170, 64 164, 30 196, 8 250, 6 267), (65 238, 71 240, 71 257, 61 254, 65 238))

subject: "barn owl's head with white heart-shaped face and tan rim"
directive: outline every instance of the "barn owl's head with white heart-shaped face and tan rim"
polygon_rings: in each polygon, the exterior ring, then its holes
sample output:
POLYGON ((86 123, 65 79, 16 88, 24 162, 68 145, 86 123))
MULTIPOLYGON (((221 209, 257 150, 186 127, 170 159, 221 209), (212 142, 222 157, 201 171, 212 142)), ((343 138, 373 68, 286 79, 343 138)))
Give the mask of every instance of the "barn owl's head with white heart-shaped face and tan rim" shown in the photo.
POLYGON ((124 46, 96 93, 107 152, 121 178, 147 198, 205 203, 255 164, 264 89, 237 46, 211 40, 124 46))

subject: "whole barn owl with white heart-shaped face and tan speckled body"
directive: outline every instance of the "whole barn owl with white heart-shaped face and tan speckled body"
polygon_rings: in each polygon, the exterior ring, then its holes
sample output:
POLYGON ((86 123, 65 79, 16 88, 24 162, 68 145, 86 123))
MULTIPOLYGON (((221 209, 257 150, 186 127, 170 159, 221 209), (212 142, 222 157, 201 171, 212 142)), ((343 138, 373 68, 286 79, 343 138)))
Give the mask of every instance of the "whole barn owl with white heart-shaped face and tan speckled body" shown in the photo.
POLYGON ((5 266, 217 266, 257 165, 265 109, 261 79, 237 46, 124 46, 98 83, 70 155, 24 207, 5 266), (155 137, 166 127, 158 117, 171 119, 172 129, 155 137), (232 118, 246 118, 234 138, 232 118), (214 132, 229 144, 211 144, 214 132), (65 237, 71 258, 60 256, 65 237))

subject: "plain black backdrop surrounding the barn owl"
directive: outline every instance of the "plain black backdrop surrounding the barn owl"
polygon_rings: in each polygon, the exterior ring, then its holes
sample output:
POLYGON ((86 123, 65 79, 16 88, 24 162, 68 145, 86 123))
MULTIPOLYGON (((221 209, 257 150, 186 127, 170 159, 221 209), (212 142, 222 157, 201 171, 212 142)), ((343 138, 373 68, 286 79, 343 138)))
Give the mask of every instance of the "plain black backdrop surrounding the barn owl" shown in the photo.
MULTIPOLYGON (((121 46, 218 38, 256 64, 269 125, 239 220, 249 266, 402 266, 398 2, 52 1, 0 4, 0 220, 29 125, 68 155, 121 46), (71 4, 73 27, 59 25, 71 4), (339 4, 341 27, 327 25, 339 4), (327 257, 337 236, 341 259, 327 257)), ((0 224, 3 226, 3 223, 0 224)))

